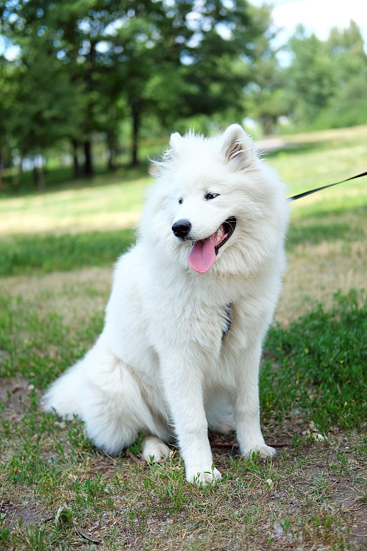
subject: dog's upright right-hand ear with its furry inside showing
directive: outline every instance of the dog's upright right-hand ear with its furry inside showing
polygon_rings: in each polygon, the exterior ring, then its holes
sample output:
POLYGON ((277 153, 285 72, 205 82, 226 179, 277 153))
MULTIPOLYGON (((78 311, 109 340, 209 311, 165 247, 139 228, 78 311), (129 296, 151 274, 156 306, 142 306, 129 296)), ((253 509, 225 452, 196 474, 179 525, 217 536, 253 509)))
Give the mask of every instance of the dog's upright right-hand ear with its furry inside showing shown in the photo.
POLYGON ((231 125, 223 134, 222 152, 227 161, 235 163, 238 168, 251 164, 253 143, 249 134, 240 125, 231 125))

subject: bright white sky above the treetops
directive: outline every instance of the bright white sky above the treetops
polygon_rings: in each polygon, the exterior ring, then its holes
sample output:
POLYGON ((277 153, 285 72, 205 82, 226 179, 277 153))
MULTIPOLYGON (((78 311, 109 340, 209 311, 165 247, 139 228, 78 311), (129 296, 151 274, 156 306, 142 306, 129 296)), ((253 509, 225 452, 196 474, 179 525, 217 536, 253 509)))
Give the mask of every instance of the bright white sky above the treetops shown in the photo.
MULTIPOLYGON (((273 6, 273 22, 281 28, 277 41, 285 43, 293 34, 298 23, 303 23, 308 34, 314 32, 317 38, 325 40, 333 27, 346 28, 353 19, 364 37, 367 51, 367 0, 250 0, 259 6, 267 3, 273 6)), ((4 50, 0 37, 0 54, 4 50)), ((17 50, 10 48, 6 56, 10 59, 17 50)))

